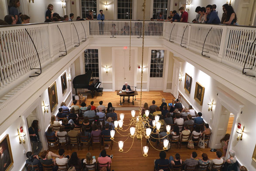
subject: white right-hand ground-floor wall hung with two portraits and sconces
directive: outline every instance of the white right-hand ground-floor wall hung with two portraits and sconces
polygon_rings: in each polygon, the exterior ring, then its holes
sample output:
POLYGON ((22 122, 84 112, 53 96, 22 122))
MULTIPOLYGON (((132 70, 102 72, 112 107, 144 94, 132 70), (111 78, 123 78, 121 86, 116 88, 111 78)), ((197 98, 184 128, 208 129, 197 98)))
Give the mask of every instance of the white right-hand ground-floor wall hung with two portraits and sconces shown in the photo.
MULTIPOLYGON (((243 140, 237 141, 236 137, 238 136, 237 133, 234 134, 232 137, 233 143, 230 144, 230 149, 235 150, 236 157, 238 158, 240 164, 245 165, 249 171, 256 170, 256 162, 252 160, 253 150, 256 144, 256 136, 255 136, 255 129, 256 129, 256 118, 255 118, 255 111, 256 111, 256 104, 249 102, 247 99, 243 98, 242 94, 237 94, 233 92, 228 87, 225 87, 220 82, 212 79, 209 75, 205 74, 201 70, 195 68, 193 65, 189 64, 188 62, 183 62, 181 65, 181 72, 183 72, 182 81, 179 83, 179 91, 183 94, 183 97, 187 99, 187 101, 197 110, 197 112, 203 113, 203 118, 206 123, 209 123, 210 127, 214 127, 218 125, 217 123, 213 123, 214 117, 218 116, 218 113, 215 113, 215 105, 213 106, 213 111, 208 111, 207 103, 211 102, 214 99, 214 104, 216 104, 217 98, 217 87, 228 93, 230 96, 237 99, 239 102, 244 104, 244 108, 242 108, 242 114, 240 114, 237 123, 241 123, 242 127, 245 126, 245 133, 243 134, 243 140), (188 94, 184 90, 184 79, 185 73, 189 74, 192 77, 192 86, 191 92, 188 94), (201 85, 205 87, 204 91, 204 100, 203 105, 200 106, 194 100, 194 91, 196 82, 199 82, 201 85)), ((235 130, 237 123, 235 123, 235 130)), ((210 146, 211 147, 211 146, 210 146)))

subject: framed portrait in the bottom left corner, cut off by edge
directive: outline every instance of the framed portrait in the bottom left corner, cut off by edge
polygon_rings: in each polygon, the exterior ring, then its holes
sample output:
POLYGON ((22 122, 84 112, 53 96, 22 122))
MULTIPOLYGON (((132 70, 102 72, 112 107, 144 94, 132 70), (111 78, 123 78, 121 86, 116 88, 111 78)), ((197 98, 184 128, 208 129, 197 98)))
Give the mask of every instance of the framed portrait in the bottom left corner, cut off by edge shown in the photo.
POLYGON ((7 134, 3 140, 0 141, 0 170, 9 171, 10 167, 14 164, 14 159, 12 157, 11 148, 10 148, 10 139, 7 134))

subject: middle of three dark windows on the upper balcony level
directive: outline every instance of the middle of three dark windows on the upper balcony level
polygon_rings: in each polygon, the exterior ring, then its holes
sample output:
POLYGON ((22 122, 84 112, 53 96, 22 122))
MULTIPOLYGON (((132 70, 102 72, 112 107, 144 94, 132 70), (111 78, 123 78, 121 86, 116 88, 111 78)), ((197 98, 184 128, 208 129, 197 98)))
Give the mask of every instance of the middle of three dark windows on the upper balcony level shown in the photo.
POLYGON ((129 20, 132 18, 132 0, 118 0, 118 19, 129 20))

